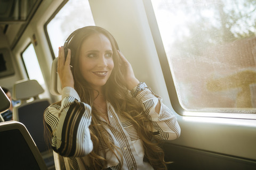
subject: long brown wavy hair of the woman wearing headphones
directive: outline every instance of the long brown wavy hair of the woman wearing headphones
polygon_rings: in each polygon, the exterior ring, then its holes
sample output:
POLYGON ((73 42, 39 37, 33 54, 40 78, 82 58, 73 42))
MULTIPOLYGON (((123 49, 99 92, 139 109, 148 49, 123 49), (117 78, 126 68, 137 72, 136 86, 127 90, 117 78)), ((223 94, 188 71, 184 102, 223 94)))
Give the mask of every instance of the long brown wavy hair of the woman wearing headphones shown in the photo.
POLYGON ((73 65, 72 73, 75 81, 75 90, 79 94, 81 101, 89 104, 92 107, 92 122, 89 126, 91 140, 93 142, 93 150, 87 156, 89 158, 90 167, 93 169, 106 169, 107 160, 105 150, 100 150, 100 146, 105 145, 113 152, 119 161, 120 169, 122 168, 122 154, 118 148, 109 139, 108 132, 103 128, 102 121, 99 118, 99 112, 93 106, 95 99, 94 92, 89 83, 83 78, 79 70, 79 52, 83 41, 95 34, 100 33, 105 35, 113 48, 114 69, 111 75, 103 86, 103 95, 106 100, 114 107, 115 112, 129 120, 134 128, 138 130, 140 139, 142 140, 145 150, 144 161, 148 162, 154 169, 166 169, 164 162, 164 152, 158 146, 159 140, 156 139, 150 131, 153 128, 153 123, 147 118, 146 113, 139 105, 138 101, 131 97, 129 90, 125 86, 124 74, 125 70, 121 66, 121 58, 117 50, 118 46, 114 37, 105 29, 97 26, 88 26, 76 30, 74 36, 66 43, 67 48, 71 49, 71 65, 73 65), (103 157, 100 156, 103 152, 103 157))

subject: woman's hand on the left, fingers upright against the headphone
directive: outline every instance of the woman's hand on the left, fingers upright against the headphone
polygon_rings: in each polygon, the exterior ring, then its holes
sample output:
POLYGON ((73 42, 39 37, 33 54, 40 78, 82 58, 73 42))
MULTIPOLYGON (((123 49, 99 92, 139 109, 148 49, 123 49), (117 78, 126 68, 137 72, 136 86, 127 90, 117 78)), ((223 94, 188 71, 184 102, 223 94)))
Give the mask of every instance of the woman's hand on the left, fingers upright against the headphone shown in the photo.
POLYGON ((58 74, 62 88, 72 87, 74 88, 74 78, 70 68, 71 50, 68 49, 68 55, 65 60, 64 47, 59 47, 58 56, 58 74))

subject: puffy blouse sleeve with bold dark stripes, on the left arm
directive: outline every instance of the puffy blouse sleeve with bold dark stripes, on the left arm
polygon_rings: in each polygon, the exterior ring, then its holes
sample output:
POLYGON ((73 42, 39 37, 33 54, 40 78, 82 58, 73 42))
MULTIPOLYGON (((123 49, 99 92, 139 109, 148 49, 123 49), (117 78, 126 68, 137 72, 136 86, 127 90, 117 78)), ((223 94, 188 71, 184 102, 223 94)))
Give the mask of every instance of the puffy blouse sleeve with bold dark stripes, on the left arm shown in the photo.
POLYGON ((46 108, 44 119, 55 152, 65 157, 83 157, 92 151, 91 107, 80 102, 75 89, 63 88, 61 107, 53 104, 46 108))

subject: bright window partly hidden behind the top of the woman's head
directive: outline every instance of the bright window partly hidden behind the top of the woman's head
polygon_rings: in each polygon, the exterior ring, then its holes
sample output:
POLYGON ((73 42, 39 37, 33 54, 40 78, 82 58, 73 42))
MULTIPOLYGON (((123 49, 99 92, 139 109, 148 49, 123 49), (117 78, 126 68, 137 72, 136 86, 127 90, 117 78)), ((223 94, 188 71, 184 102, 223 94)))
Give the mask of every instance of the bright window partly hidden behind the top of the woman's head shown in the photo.
POLYGON ((49 36, 54 56, 58 56, 58 47, 74 30, 95 25, 90 4, 87 0, 69 0, 46 22, 46 35, 49 36))

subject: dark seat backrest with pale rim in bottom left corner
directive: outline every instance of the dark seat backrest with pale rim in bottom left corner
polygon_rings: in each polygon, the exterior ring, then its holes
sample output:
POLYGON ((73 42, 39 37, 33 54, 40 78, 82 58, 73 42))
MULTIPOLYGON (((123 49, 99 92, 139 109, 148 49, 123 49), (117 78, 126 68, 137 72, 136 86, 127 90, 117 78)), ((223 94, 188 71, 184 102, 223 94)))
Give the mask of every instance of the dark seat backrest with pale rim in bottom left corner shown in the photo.
POLYGON ((1 169, 47 169, 26 127, 16 121, 0 123, 1 169))

